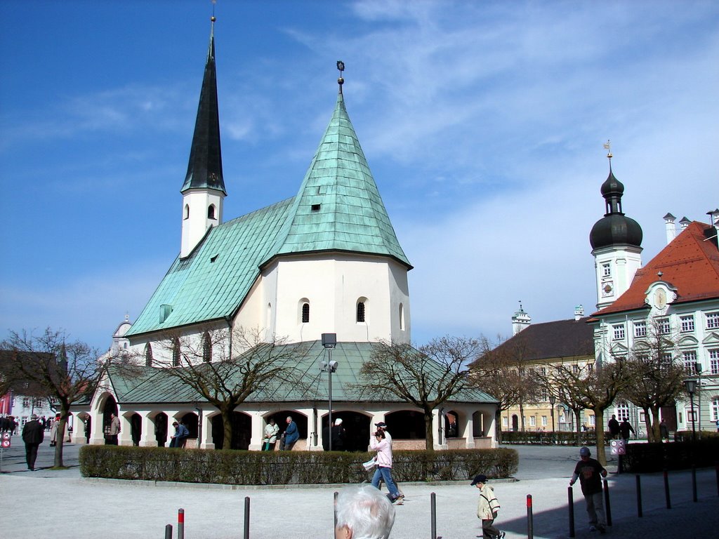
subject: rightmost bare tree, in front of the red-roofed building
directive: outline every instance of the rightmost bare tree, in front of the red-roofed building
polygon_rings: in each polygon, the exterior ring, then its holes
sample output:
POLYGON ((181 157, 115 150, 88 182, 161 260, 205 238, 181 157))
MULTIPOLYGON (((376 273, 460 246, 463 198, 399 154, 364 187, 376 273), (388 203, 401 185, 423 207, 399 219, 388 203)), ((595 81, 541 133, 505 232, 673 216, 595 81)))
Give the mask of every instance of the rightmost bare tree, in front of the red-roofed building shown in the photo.
POLYGON ((684 394, 687 372, 675 359, 675 341, 663 323, 653 321, 647 326, 646 338, 636 341, 627 356, 626 375, 631 383, 626 385, 620 397, 644 410, 650 442, 661 441, 659 409, 674 405, 674 400, 684 394))

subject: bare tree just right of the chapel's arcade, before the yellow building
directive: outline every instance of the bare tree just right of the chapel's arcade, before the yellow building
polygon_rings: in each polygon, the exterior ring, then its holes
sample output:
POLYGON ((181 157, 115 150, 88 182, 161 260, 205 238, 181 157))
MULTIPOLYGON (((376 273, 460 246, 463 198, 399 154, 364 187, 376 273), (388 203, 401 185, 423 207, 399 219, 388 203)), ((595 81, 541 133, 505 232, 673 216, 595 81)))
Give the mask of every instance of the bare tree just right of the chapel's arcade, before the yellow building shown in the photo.
MULTIPOLYGON (((485 336, 480 338, 480 354, 470 365, 470 378, 475 387, 498 400, 497 425, 503 411, 518 406, 520 429, 524 430, 524 405, 536 402, 541 390, 539 380, 528 375, 528 357, 524 344, 499 344, 485 336)), ((501 429, 497 432, 501 441, 501 429)))

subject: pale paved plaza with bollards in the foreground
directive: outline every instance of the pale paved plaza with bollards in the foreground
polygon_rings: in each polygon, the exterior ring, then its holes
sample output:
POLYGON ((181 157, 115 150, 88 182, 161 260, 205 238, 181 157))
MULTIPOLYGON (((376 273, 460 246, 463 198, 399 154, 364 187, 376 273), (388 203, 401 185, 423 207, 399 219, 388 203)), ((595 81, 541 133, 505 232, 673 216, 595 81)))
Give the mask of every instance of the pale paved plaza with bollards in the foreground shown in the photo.
MULTIPOLYGON (((533 501, 533 537, 569 537, 567 485, 578 450, 558 446, 512 446, 520 454, 513 480, 491 482, 501 504, 496 522, 508 539, 526 538, 526 496, 533 501)), ((342 485, 307 487, 223 487, 86 479, 78 469, 80 446, 65 446, 67 470, 51 470, 52 448, 43 443, 36 466, 27 471, 24 446, 14 436, 4 451, 0 474, 0 538, 164 538, 165 525, 177 537, 178 508, 185 510, 186 539, 243 538, 244 500, 250 499, 251 539, 331 539, 333 494, 342 485)), ((593 453, 593 452, 592 452, 593 453)), ((616 462, 610 461, 610 472, 616 462)), ((610 473, 613 526, 607 536, 622 539, 719 536, 715 469, 697 471, 698 502, 692 502, 691 474, 669 475, 672 509, 667 510, 662 474, 641 476, 644 517, 637 516, 633 474, 610 473)), ((405 505, 396 508, 392 539, 431 538, 431 493, 436 494, 436 530, 443 539, 481 537, 477 489, 470 482, 401 484, 405 505)), ((574 489, 577 538, 598 538, 587 530, 584 499, 574 489)))

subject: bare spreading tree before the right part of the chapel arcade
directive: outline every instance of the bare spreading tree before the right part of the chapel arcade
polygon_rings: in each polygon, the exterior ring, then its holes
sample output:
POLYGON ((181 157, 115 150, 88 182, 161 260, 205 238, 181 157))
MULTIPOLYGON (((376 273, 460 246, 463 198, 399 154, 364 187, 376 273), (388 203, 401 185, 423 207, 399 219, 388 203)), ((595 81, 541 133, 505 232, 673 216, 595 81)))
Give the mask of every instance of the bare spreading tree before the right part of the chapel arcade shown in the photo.
POLYGON ((432 412, 470 385, 467 363, 477 356, 479 341, 445 336, 416 349, 410 344, 375 346, 359 371, 359 380, 348 389, 357 398, 402 402, 422 410, 425 447, 434 451, 432 412))

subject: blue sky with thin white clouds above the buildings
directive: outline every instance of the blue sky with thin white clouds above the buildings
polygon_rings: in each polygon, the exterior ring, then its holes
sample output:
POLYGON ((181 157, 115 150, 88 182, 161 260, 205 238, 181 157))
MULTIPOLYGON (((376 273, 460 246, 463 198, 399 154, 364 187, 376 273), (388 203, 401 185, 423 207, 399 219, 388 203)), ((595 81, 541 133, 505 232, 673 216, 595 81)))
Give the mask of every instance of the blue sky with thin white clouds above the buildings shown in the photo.
MULTIPOLYGON (((715 1, 223 1, 225 218, 296 194, 336 98, 410 272, 413 341, 594 310, 603 143, 644 229, 719 206, 715 1)), ((0 337, 106 349, 180 249, 210 1, 0 1, 0 337)))

